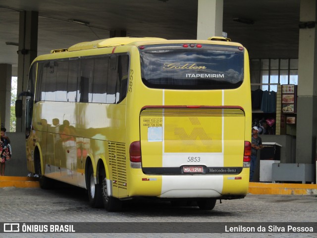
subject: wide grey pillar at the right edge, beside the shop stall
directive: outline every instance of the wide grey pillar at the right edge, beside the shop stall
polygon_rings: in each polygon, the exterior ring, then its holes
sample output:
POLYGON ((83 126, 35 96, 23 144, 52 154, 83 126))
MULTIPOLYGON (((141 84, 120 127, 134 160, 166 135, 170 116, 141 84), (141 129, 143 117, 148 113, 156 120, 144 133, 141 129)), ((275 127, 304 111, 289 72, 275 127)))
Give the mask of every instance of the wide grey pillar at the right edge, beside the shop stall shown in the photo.
MULTIPOLYGON (((316 0, 301 0, 300 22, 316 22, 316 0)), ((312 164, 317 137, 317 30, 299 30, 296 163, 312 164)))

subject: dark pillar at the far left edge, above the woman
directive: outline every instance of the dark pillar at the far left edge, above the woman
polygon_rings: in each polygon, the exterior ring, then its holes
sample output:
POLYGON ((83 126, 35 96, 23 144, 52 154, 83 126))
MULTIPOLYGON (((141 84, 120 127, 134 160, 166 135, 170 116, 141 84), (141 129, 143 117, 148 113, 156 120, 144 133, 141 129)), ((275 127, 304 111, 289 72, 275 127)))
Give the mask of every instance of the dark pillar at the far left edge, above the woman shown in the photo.
POLYGON ((0 122, 10 131, 12 65, 0 64, 0 122))

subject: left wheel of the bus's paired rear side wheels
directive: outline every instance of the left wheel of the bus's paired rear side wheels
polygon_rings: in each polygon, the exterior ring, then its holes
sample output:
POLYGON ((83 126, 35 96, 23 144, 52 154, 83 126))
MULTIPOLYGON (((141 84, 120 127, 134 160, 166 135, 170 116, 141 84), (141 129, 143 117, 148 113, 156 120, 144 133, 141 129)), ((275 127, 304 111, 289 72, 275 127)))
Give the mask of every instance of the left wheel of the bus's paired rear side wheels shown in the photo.
POLYGON ((102 207, 103 199, 101 194, 101 186, 100 184, 95 184, 94 170, 91 165, 88 167, 87 175, 89 204, 94 208, 102 207))

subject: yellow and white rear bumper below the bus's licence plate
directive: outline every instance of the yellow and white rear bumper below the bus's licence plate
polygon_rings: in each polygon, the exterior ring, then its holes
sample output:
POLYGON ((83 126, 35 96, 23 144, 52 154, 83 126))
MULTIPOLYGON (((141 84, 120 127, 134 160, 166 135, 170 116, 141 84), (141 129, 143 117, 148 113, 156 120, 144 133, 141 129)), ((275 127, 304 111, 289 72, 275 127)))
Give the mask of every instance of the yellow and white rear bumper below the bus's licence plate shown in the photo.
POLYGON ((236 176, 238 179, 227 175, 134 175, 129 196, 242 198, 247 194, 249 185, 249 173, 243 172, 236 176))

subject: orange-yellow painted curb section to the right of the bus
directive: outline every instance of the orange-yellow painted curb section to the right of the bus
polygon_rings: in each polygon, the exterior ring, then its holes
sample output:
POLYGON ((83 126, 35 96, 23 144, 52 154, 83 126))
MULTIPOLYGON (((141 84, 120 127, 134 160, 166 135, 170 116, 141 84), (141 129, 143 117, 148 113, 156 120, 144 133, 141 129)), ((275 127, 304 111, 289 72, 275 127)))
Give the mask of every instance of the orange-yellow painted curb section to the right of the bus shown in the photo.
POLYGON ((317 184, 250 182, 249 193, 275 195, 311 195, 317 194, 317 184))

